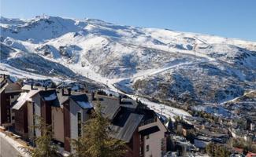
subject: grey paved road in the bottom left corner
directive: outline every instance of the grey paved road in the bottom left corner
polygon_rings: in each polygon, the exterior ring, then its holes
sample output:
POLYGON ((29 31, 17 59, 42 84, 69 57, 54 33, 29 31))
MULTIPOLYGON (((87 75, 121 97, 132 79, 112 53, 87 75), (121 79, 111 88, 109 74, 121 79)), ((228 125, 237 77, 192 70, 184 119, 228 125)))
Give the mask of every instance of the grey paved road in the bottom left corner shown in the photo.
POLYGON ((17 157, 21 156, 19 152, 4 138, 0 137, 0 157, 17 157))

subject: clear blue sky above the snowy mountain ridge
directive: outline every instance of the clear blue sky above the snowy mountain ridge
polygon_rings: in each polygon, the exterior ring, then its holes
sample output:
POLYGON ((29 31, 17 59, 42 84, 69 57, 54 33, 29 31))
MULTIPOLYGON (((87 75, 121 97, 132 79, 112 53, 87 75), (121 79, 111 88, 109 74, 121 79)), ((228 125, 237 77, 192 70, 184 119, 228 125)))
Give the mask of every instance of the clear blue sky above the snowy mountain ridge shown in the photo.
POLYGON ((256 0, 0 0, 1 16, 46 14, 256 42, 256 0))

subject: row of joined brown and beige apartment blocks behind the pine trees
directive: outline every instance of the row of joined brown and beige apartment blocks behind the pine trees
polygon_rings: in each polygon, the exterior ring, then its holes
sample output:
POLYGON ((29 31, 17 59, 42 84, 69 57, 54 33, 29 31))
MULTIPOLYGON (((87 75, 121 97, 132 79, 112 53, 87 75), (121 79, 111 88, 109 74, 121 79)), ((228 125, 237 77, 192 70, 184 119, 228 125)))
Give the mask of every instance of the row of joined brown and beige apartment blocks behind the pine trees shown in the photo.
MULTIPOLYGON (((95 93, 77 93, 71 89, 43 89, 24 86, 13 105, 15 130, 31 141, 41 136, 36 116, 52 126, 53 141, 66 152, 72 152, 71 139, 83 136, 82 126, 91 117, 91 110, 101 104, 102 115, 109 119, 114 138, 125 141, 128 152, 124 157, 160 157, 166 152, 167 129, 158 115, 139 101, 109 97, 95 93)), ((31 141, 33 142, 33 141, 31 141)))

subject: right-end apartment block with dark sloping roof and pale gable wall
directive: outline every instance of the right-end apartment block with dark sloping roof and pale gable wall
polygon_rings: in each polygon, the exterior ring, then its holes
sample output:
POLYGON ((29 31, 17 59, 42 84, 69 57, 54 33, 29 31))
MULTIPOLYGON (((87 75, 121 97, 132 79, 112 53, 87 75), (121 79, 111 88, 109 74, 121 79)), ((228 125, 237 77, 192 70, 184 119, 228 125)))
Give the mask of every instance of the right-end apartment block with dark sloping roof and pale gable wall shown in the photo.
POLYGON ((167 129, 156 113, 128 98, 97 95, 93 103, 102 104, 102 114, 111 120, 113 137, 126 141, 125 157, 160 157, 166 152, 167 129), (111 113, 111 114, 110 114, 111 113))

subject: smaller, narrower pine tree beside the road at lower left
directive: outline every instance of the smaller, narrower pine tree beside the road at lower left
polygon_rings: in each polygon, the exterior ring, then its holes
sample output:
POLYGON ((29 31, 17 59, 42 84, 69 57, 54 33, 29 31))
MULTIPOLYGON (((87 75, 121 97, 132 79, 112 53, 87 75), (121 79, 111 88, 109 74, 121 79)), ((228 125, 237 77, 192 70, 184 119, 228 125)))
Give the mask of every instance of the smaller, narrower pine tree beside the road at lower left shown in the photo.
POLYGON ((35 148, 21 147, 25 153, 31 157, 56 157, 58 154, 57 145, 52 143, 53 132, 51 126, 39 116, 35 117, 37 124, 32 126, 34 130, 40 130, 42 135, 35 137, 35 148))

